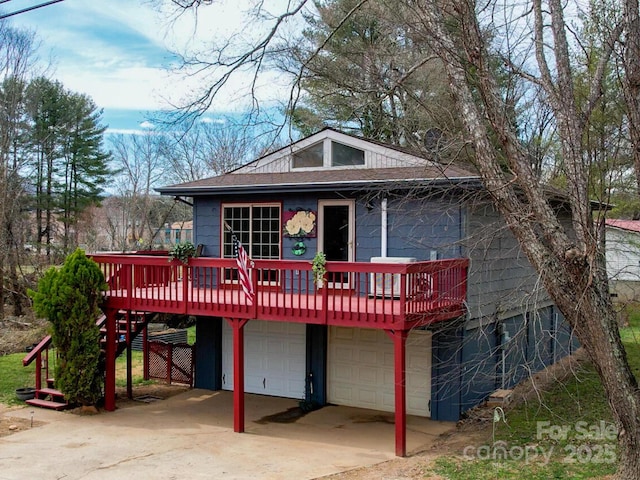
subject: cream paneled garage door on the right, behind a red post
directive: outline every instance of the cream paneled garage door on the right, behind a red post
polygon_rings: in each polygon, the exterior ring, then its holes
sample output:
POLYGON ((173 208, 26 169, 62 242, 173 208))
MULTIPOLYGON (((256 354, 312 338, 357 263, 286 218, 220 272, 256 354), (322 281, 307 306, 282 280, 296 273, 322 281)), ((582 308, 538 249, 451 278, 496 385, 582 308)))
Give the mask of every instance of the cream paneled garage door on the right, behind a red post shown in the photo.
MULTIPOLYGON (((393 341, 382 330, 329 329, 328 401, 337 405, 393 412, 393 341)), ((407 338, 407 413, 430 417, 431 332, 407 338)))

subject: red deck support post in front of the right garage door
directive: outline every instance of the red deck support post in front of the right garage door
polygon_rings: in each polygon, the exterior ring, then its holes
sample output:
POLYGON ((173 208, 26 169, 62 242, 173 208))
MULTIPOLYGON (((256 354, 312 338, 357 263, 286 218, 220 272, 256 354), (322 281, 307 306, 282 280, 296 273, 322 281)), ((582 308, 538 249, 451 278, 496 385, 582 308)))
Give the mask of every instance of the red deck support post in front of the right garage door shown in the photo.
POLYGON ((407 369, 406 369, 406 330, 385 330, 393 340, 395 372, 395 425, 396 456, 407 456, 407 369))

